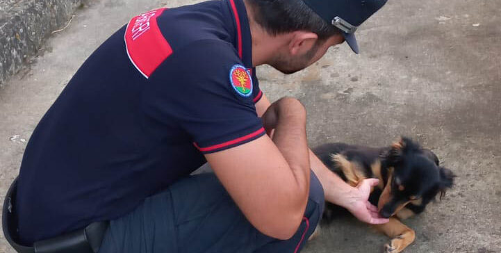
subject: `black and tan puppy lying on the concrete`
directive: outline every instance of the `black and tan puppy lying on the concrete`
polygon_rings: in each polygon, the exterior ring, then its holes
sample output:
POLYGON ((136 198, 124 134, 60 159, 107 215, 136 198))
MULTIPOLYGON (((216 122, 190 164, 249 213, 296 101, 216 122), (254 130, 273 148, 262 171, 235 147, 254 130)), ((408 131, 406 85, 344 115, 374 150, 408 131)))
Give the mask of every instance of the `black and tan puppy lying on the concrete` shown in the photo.
MULTIPOLYGON (((313 149, 327 167, 343 180, 356 186, 361 180, 379 179, 370 202, 383 217, 390 218, 375 228, 389 236, 385 252, 401 252, 411 244, 415 233, 400 222, 421 213, 429 202, 453 183, 454 174, 439 165, 437 156, 409 138, 401 138, 390 147, 372 148, 344 143, 329 143, 313 149)), ((324 220, 332 220, 340 207, 326 203, 324 220)))

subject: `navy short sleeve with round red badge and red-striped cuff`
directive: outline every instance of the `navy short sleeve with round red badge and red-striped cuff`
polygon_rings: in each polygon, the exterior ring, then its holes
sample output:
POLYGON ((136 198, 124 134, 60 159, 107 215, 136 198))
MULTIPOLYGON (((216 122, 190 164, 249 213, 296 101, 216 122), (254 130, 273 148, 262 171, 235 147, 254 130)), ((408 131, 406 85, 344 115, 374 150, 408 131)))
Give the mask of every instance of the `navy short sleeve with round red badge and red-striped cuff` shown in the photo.
POLYGON ((148 83, 142 97, 146 113, 179 126, 204 154, 265 134, 252 74, 227 42, 193 42, 167 58, 148 83))

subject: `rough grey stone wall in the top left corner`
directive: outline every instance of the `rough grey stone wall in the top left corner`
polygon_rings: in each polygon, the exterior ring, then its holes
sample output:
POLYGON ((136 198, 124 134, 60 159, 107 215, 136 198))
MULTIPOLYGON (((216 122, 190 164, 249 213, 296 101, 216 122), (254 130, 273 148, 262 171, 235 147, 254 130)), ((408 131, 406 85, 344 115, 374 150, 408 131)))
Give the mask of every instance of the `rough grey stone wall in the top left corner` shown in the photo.
POLYGON ((19 71, 52 31, 63 28, 74 11, 95 0, 0 1, 0 85, 19 71))

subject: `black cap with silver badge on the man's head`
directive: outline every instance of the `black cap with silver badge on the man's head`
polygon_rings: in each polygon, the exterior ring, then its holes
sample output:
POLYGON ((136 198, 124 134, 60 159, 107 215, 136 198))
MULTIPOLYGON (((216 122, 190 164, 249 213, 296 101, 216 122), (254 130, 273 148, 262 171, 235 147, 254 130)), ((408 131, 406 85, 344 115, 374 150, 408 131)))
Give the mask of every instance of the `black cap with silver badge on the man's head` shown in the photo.
POLYGON ((372 14, 384 6, 387 0, 303 0, 327 23, 336 26, 345 36, 352 50, 359 54, 354 32, 372 14))

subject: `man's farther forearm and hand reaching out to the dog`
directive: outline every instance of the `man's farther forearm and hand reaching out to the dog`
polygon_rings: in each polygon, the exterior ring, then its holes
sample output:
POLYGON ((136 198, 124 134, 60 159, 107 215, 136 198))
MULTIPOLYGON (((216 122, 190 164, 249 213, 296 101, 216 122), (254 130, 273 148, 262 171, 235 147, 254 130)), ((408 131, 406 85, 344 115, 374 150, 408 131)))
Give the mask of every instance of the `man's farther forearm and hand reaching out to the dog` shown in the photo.
MULTIPOLYGON (((270 106, 270 101, 263 95, 256 103, 256 111, 259 116, 263 115, 270 106)), ((276 133, 274 133, 276 134, 276 133)), ((309 150, 309 160, 311 170, 315 172, 322 188, 324 188, 325 200, 338 206, 343 206, 356 218, 370 224, 381 224, 388 222, 388 219, 381 218, 377 213, 377 207, 368 202, 370 188, 377 186, 378 179, 366 179, 356 188, 348 185, 340 179, 338 175, 331 172, 320 159, 309 150)))

